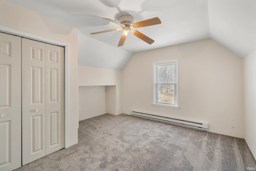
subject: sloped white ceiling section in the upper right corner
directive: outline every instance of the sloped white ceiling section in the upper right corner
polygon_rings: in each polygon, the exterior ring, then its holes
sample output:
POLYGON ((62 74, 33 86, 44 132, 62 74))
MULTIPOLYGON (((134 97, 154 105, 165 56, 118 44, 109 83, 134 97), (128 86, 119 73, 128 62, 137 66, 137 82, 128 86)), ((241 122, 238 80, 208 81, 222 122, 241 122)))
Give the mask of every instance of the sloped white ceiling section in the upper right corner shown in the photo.
POLYGON ((208 0, 210 38, 245 58, 256 50, 256 0, 208 0))

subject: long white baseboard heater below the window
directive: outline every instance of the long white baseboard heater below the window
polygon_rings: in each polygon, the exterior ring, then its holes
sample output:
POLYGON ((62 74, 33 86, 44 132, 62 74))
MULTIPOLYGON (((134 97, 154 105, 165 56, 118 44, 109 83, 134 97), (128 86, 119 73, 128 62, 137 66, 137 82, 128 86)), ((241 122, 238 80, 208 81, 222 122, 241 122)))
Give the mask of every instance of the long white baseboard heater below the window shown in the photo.
POLYGON ((196 129, 202 129, 205 131, 208 131, 208 123, 199 123, 199 122, 194 122, 194 121, 187 121, 184 119, 177 119, 177 118, 172 118, 172 117, 165 117, 165 116, 159 116, 151 113, 144 113, 140 111, 134 111, 131 110, 131 114, 134 116, 138 117, 144 117, 147 119, 153 119, 153 120, 158 120, 158 121, 164 121, 167 123, 173 123, 176 125, 182 125, 186 127, 192 127, 196 129))

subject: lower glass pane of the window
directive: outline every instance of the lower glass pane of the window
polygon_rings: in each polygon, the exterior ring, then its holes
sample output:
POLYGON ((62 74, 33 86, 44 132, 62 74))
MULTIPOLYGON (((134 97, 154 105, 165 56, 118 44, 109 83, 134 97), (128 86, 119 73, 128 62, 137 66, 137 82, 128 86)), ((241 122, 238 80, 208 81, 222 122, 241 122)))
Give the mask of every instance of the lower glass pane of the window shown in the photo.
POLYGON ((158 103, 175 104, 174 84, 158 84, 158 103))

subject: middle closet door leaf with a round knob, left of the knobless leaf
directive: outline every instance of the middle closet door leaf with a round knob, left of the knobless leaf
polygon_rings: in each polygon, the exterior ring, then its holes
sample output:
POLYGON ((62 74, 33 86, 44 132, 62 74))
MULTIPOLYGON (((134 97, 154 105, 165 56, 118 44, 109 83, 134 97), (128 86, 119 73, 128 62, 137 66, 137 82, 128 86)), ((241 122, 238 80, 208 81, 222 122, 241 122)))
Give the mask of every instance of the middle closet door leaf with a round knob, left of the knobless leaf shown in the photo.
POLYGON ((22 165, 46 155, 45 44, 22 38, 22 165))

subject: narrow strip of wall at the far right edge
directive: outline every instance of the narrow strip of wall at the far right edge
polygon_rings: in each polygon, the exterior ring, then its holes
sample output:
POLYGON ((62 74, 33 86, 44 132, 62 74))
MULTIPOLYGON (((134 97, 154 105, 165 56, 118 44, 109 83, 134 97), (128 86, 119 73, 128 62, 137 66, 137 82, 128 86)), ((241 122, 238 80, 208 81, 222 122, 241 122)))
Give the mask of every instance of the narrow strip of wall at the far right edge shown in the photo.
POLYGON ((256 158, 256 51, 244 62, 244 139, 256 158))

